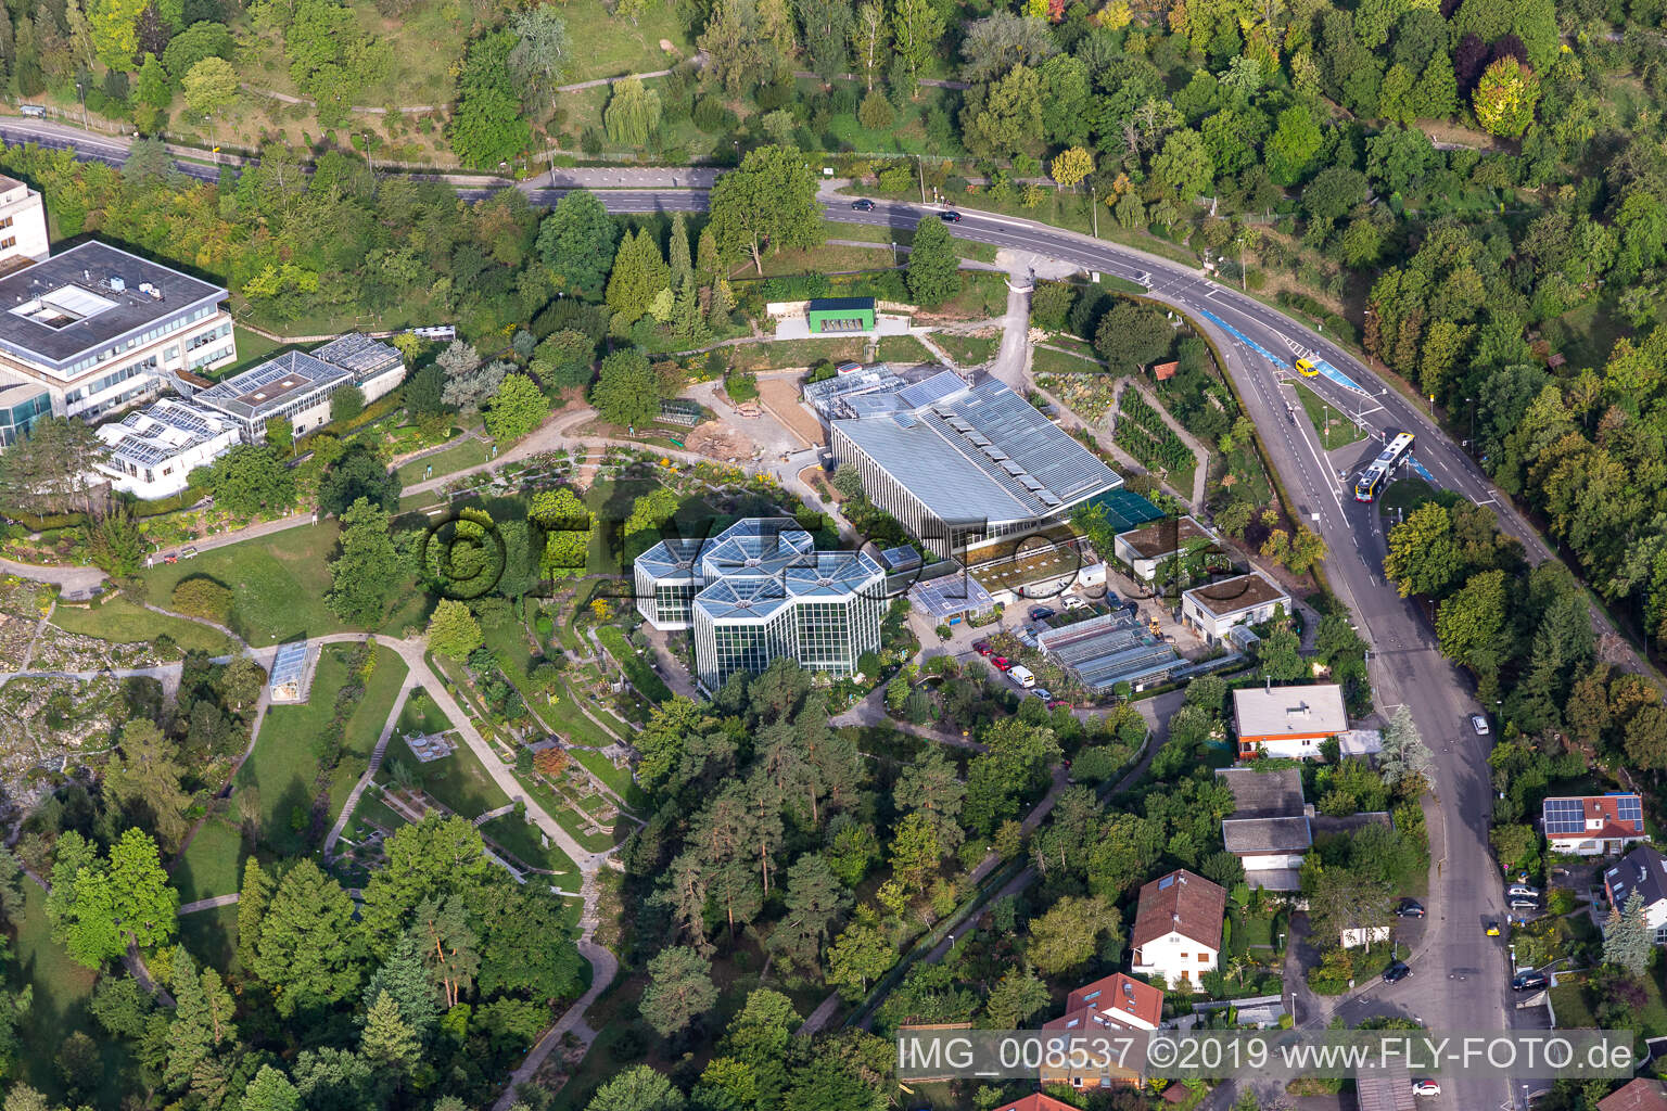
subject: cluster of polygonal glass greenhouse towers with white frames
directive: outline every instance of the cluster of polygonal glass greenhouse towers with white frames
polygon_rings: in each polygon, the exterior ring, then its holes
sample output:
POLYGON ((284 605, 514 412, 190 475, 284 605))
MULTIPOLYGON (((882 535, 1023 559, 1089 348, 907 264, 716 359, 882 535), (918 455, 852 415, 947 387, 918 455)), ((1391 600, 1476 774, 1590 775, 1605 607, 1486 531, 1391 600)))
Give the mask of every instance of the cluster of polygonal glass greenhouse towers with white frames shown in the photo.
POLYGON ((880 648, 885 571, 867 553, 817 551, 792 520, 747 518, 712 540, 660 541, 633 565, 637 611, 693 630, 695 676, 717 691, 788 656, 835 676, 880 648))

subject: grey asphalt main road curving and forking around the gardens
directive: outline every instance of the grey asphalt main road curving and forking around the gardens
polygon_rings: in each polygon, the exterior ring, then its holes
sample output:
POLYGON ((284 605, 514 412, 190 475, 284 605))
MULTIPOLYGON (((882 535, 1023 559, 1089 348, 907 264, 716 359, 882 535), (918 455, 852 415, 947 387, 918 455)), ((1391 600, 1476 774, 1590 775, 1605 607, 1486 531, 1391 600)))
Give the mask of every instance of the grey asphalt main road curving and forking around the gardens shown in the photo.
MULTIPOLYGON (((32 123, 0 125, 0 138, 70 148, 80 158, 117 165, 125 158, 122 145, 65 137, 32 123)), ((192 177, 217 177, 215 167, 188 162, 178 167, 192 177)), ((535 183, 523 188, 540 203, 553 203, 565 192, 537 188, 535 183)), ((465 198, 485 195, 483 190, 458 192, 465 198)), ((703 210, 707 203, 705 190, 698 188, 615 190, 602 198, 610 212, 622 213, 692 212, 703 210)), ((899 230, 912 228, 922 218, 937 218, 934 208, 910 203, 880 202, 874 212, 854 212, 849 198, 825 195, 823 205, 830 220, 899 230)), ((1282 358, 1292 351, 1292 343, 1317 351, 1365 390, 1364 395, 1354 395, 1329 380, 1309 380, 1322 396, 1345 411, 1360 413, 1362 421, 1377 435, 1384 428, 1415 433, 1414 455, 1439 485, 1492 506, 1500 525, 1524 541, 1530 560, 1550 558, 1545 545, 1502 498, 1495 498, 1479 468, 1417 405, 1347 351, 1260 301, 1177 263, 1027 220, 964 210, 964 218, 949 228, 959 238, 1049 255, 1087 272, 1139 281, 1150 290, 1152 298, 1187 311, 1214 333, 1227 353, 1229 373, 1262 433, 1270 461, 1299 503, 1299 511, 1332 553, 1325 570, 1372 646, 1372 681, 1379 706, 1390 713, 1407 703, 1435 751, 1435 800, 1427 808, 1435 868, 1425 899, 1430 918, 1412 958, 1414 976, 1362 993, 1344 1004, 1342 1013, 1355 1021, 1369 1014, 1409 1014, 1432 1029, 1504 1029, 1514 1018, 1509 1006, 1509 958, 1500 939, 1484 936, 1484 921, 1504 918, 1505 909, 1500 876, 1487 851, 1492 810, 1489 743, 1465 725, 1465 716, 1480 706, 1472 698, 1469 680, 1435 651, 1434 635, 1424 618, 1384 581, 1384 531, 1377 506, 1355 503, 1345 481, 1337 476, 1339 466, 1352 473, 1355 458, 1347 458, 1345 453, 1339 453, 1335 461, 1327 458, 1315 431, 1300 415, 1300 406, 1295 416, 1289 415, 1287 401, 1294 401, 1294 395, 1289 386, 1280 385, 1275 368, 1250 346, 1202 321, 1199 313, 1215 313, 1282 358)), ((1367 440, 1355 445, 1354 455, 1367 456, 1374 450, 1374 441, 1367 440)), ((1602 626, 1600 615, 1594 618, 1602 626)), ((1512 1101, 1512 1086, 1497 1079, 1457 1076, 1444 1081, 1442 1088, 1444 1094, 1424 1106, 1474 1111, 1512 1101)))

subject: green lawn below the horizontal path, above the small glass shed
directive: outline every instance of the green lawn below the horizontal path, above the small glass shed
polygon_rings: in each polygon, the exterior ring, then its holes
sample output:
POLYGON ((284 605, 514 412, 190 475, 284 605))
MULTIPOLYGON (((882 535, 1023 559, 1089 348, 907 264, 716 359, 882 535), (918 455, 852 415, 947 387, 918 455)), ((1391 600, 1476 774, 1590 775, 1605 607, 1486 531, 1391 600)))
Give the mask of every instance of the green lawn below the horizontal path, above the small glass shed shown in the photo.
MULTIPOLYGON (((145 585, 158 600, 170 598, 175 585, 193 575, 230 586, 232 631, 255 646, 340 633, 348 626, 325 605, 337 531, 337 523, 325 520, 210 548, 195 560, 150 568, 143 573, 145 585)), ((410 591, 382 628, 398 631, 420 621, 427 606, 427 595, 410 591)))

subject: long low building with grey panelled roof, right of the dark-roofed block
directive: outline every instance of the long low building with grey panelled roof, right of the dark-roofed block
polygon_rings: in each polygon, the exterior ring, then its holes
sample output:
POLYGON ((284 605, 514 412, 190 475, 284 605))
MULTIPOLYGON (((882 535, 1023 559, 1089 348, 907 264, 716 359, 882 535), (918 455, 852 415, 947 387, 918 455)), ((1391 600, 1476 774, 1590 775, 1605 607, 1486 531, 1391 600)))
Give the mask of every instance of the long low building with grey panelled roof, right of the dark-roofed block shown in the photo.
POLYGON ((297 436, 328 425, 330 398, 343 386, 358 386, 368 403, 403 376, 405 360, 397 348, 348 333, 313 351, 285 351, 193 400, 232 418, 247 443, 260 443, 273 420, 288 420, 297 436))

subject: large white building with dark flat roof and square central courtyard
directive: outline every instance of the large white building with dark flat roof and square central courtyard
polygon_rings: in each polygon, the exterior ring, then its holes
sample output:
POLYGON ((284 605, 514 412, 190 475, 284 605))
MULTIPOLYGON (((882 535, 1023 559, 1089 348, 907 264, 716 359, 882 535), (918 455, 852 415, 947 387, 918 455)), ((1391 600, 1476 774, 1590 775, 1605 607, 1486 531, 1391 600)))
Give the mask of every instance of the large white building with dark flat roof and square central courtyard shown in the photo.
POLYGON ((225 301, 217 285, 107 243, 72 247, 0 277, 0 383, 28 383, 30 405, 45 395, 58 416, 95 420, 153 396, 175 371, 233 361, 225 301))

